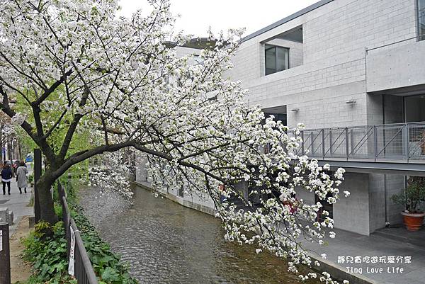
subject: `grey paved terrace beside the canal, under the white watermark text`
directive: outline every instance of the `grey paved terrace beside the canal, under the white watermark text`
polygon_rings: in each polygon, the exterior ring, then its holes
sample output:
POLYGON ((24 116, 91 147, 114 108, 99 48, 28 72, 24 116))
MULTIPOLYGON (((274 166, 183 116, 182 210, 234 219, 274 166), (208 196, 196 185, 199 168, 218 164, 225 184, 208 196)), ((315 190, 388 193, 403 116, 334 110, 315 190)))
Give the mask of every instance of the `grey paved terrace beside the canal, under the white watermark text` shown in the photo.
MULTIPOLYGON (((327 254, 325 263, 330 264, 332 268, 339 268, 341 271, 365 280, 363 282, 358 279, 358 281, 351 282, 352 284, 367 282, 380 284, 424 283, 425 246, 404 242, 402 239, 385 237, 382 234, 371 234, 367 237, 340 229, 334 229, 334 232, 336 232, 336 237, 327 239, 328 246, 319 247, 317 244, 305 243, 305 248, 317 251, 319 254, 327 254)), ((407 234, 408 232, 400 233, 407 234)), ((333 274, 332 271, 328 272, 333 274)))

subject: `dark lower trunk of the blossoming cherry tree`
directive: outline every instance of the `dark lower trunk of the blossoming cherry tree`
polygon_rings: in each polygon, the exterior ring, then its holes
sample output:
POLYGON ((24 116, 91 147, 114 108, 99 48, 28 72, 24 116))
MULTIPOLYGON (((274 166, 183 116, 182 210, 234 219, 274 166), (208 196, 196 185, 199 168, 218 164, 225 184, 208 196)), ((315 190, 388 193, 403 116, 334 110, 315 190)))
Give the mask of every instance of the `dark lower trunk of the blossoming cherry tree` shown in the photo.
POLYGON ((38 193, 38 202, 40 203, 40 220, 49 222, 52 225, 59 220, 55 214, 52 193, 50 193, 50 188, 54 182, 55 179, 52 177, 52 174, 46 171, 45 174, 40 176, 40 179, 35 185, 38 193))

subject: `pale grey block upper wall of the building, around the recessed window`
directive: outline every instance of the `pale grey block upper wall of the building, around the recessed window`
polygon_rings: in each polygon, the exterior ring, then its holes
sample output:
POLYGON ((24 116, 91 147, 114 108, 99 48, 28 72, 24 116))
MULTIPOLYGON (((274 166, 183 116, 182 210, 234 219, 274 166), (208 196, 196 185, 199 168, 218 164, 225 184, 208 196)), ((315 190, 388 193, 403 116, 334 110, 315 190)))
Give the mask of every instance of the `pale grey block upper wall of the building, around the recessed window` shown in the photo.
MULTIPOLYGON (((249 89, 249 103, 262 108, 287 106, 289 126, 381 124, 380 98, 370 98, 366 90, 365 49, 414 37, 415 13, 415 0, 331 1, 242 42, 227 76, 249 89), (264 42, 276 44, 280 40, 270 39, 299 25, 303 43, 297 52, 302 50, 302 64, 298 61, 290 69, 264 76, 264 42), (356 104, 347 106, 349 100, 356 104), (291 113, 293 108, 300 111, 291 113)), ((402 44, 406 42, 389 48, 402 44)))

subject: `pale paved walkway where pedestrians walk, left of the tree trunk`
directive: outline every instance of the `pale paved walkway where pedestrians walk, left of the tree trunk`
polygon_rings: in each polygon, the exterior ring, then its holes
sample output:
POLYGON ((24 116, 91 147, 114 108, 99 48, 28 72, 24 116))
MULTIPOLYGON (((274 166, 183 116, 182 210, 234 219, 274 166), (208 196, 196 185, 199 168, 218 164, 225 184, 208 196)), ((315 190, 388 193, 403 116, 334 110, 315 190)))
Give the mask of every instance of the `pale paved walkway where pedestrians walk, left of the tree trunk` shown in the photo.
POLYGON ((9 211, 13 211, 13 225, 9 227, 9 235, 12 235, 23 216, 34 215, 33 207, 28 206, 33 188, 27 188, 27 193, 22 190, 22 194, 20 194, 16 178, 12 178, 11 195, 7 194, 7 187, 6 195, 3 195, 2 189, 0 189, 0 208, 8 208, 9 211))

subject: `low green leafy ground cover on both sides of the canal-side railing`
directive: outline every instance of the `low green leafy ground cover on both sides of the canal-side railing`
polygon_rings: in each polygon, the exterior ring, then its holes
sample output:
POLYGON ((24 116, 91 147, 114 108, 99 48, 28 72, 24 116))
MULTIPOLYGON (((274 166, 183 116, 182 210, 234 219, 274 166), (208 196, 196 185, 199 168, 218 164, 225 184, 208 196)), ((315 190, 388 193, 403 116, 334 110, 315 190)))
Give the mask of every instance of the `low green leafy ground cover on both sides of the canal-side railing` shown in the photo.
MULTIPOLYGON (((74 181, 66 180, 65 183, 71 216, 79 229, 99 284, 137 284, 137 280, 128 273, 128 264, 123 263, 118 255, 113 254, 109 244, 102 241, 96 228, 84 215, 83 208, 77 204, 77 193, 72 190, 76 187, 74 181)), ((57 200, 56 195, 55 200, 57 200)), ((60 203, 55 203, 55 213, 62 218, 60 203)), ((38 222, 35 225, 35 231, 23 240, 23 244, 26 246, 24 259, 33 264, 33 276, 28 284, 77 283, 67 273, 67 241, 63 222, 57 222, 53 227, 46 222, 38 222), (45 232, 52 232, 52 234, 47 237, 45 232)))

